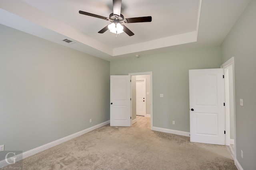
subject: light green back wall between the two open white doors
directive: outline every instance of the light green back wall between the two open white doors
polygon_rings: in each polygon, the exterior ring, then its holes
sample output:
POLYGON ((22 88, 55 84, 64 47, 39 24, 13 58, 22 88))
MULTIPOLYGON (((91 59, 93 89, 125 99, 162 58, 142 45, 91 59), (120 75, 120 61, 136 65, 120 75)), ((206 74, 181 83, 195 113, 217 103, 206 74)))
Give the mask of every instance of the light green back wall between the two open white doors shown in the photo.
POLYGON ((218 46, 118 59, 110 62, 110 74, 152 71, 153 126, 189 132, 188 70, 220 68, 220 64, 218 46))

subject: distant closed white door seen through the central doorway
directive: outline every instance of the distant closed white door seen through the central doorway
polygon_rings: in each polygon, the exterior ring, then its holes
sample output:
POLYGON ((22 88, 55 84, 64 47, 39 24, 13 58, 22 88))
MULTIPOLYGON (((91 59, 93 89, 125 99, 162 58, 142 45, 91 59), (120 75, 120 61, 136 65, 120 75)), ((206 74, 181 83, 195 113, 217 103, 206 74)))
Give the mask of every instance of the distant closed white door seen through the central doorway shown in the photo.
POLYGON ((136 79, 136 115, 146 116, 146 79, 136 79))

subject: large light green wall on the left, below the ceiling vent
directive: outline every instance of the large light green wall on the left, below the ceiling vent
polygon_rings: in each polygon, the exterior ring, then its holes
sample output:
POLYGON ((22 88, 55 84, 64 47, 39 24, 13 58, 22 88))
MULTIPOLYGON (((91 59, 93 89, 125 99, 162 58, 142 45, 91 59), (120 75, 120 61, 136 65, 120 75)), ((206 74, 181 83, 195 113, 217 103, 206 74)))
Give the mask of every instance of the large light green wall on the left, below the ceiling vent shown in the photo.
POLYGON ((4 25, 0 37, 5 150, 24 152, 110 119, 109 61, 4 25))

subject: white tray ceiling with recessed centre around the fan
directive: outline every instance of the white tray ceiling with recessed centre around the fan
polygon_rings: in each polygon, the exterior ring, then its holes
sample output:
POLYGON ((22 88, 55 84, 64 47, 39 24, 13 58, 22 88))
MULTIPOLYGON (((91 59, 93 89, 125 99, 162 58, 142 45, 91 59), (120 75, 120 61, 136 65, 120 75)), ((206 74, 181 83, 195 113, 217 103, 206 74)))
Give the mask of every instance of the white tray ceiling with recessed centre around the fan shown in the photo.
POLYGON ((100 34, 110 21, 78 13, 109 17, 112 0, 0 0, 0 23, 110 61, 220 45, 249 1, 122 0, 125 18, 152 16, 152 22, 125 23, 131 37, 100 34))

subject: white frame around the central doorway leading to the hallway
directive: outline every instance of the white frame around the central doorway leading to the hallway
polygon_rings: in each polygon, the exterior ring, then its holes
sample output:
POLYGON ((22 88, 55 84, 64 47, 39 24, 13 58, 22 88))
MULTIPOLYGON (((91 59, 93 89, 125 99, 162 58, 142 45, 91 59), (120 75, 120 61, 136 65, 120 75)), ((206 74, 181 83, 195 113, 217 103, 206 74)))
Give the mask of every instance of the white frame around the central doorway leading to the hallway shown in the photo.
MULTIPOLYGON (((130 76, 137 76, 137 75, 150 75, 150 129, 153 130, 153 76, 152 71, 150 72, 134 72, 129 73, 130 76)), ((132 103, 131 103, 132 108, 132 103)), ((131 109, 132 110, 132 109, 131 109)), ((132 117, 132 111, 131 111, 131 117, 132 117)))

